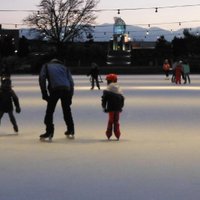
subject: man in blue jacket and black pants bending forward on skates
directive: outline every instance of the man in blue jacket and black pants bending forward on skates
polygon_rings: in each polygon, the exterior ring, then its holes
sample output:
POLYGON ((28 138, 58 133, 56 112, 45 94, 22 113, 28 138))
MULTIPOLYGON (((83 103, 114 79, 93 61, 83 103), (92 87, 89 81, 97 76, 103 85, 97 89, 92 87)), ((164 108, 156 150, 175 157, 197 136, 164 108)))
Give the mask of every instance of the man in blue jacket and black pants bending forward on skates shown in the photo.
POLYGON ((51 139, 54 136, 53 113, 56 104, 60 99, 64 121, 67 126, 65 135, 68 138, 74 138, 74 121, 71 113, 72 97, 74 93, 74 82, 69 69, 58 59, 52 59, 49 63, 43 65, 39 84, 43 100, 47 101, 47 109, 44 118, 46 132, 40 135, 40 139, 51 139), (48 86, 46 85, 48 82, 48 86))

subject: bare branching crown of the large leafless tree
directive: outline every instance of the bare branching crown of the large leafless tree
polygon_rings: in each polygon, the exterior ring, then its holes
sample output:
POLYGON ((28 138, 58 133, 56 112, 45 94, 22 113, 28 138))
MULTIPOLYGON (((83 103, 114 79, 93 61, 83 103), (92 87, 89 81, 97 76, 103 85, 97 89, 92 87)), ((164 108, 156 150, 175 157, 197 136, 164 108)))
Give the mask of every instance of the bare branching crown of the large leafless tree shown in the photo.
POLYGON ((67 41, 90 33, 95 23, 94 8, 99 0, 42 0, 39 11, 24 22, 35 27, 55 42, 58 50, 67 41))

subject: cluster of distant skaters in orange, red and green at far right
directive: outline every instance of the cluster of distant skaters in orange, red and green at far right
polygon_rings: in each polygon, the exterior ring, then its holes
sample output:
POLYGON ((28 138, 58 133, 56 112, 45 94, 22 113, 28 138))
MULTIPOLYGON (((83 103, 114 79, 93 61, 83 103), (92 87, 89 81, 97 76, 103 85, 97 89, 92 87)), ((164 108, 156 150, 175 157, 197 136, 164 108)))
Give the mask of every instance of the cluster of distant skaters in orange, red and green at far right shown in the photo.
POLYGON ((184 84, 191 83, 190 80, 190 65, 184 60, 179 60, 173 65, 170 64, 168 59, 164 60, 163 71, 165 73, 166 79, 169 79, 170 71, 172 71, 171 81, 176 84, 181 84, 181 80, 184 80, 184 84))

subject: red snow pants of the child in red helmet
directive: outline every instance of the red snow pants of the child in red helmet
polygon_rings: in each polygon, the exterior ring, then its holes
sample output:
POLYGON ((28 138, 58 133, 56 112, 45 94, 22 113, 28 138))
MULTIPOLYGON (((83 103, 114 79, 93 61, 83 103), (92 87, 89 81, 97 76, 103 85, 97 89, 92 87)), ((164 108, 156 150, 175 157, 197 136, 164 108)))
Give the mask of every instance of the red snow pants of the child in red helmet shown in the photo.
POLYGON ((112 131, 114 127, 114 134, 117 139, 119 139, 121 132, 119 128, 119 115, 120 112, 109 112, 108 113, 108 125, 106 130, 106 136, 108 139, 112 136, 112 131))

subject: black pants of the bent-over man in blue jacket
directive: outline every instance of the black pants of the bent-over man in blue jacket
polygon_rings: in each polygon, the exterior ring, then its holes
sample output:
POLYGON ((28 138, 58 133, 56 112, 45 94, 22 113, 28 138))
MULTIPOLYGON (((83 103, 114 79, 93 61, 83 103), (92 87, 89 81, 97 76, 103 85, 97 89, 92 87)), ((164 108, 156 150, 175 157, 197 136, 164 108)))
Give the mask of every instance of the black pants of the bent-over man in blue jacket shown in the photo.
POLYGON ((59 99, 61 100, 63 117, 67 126, 67 130, 74 131, 74 122, 70 108, 72 96, 68 90, 55 90, 50 93, 50 97, 47 103, 46 115, 44 118, 46 132, 49 134, 54 133, 53 113, 59 99))

